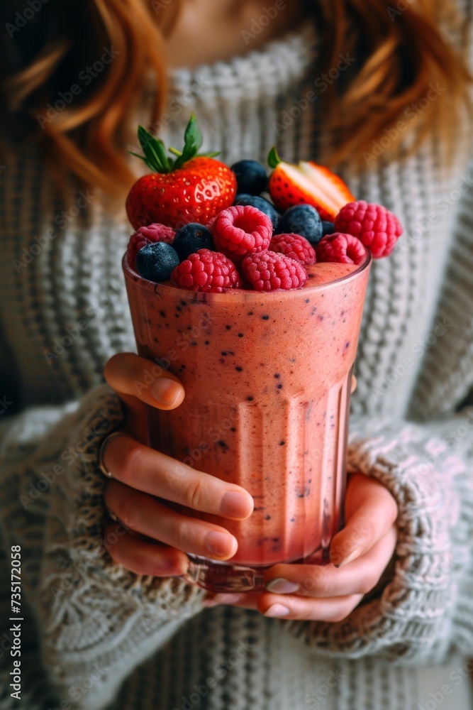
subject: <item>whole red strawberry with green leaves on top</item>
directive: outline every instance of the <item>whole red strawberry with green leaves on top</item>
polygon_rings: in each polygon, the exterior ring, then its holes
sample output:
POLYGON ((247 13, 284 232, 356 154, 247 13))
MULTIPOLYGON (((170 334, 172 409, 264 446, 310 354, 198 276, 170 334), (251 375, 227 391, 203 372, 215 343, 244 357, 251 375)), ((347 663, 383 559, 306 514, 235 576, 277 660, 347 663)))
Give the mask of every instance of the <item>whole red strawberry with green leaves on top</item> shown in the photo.
POLYGON ((138 139, 151 175, 135 182, 126 198, 126 213, 134 229, 155 222, 179 229, 184 224, 207 224, 222 209, 233 204, 235 174, 219 160, 218 153, 199 155, 202 135, 191 115, 184 134, 182 153, 169 148, 177 158, 169 158, 165 144, 138 126, 138 139))

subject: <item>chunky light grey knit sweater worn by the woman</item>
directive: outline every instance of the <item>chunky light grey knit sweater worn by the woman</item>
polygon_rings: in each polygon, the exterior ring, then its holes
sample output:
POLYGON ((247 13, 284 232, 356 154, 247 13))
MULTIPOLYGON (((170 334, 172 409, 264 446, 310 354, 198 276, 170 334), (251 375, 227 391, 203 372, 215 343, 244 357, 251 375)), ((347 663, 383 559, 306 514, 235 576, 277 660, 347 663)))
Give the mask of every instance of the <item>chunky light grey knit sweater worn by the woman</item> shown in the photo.
MULTIPOLYGON (((317 54, 306 28, 174 72, 165 138, 177 143, 193 109, 205 147, 229 164, 264 159, 273 143, 286 160, 316 159, 331 138, 323 96, 295 107, 313 89, 317 54)), ((134 349, 121 275, 130 229, 94 190, 71 187, 61 202, 31 150, 6 163, 0 581, 6 619, 10 547, 21 545, 23 699, 10 697, 6 638, 0 709, 417 709, 416 667, 473 653, 473 414, 457 411, 473 386, 467 156, 441 163, 433 135, 410 158, 341 167, 406 234, 372 267, 347 453, 349 470, 396 498, 399 538, 382 592, 340 623, 204 609, 196 586, 108 556, 97 456, 123 414, 102 373, 134 349)))

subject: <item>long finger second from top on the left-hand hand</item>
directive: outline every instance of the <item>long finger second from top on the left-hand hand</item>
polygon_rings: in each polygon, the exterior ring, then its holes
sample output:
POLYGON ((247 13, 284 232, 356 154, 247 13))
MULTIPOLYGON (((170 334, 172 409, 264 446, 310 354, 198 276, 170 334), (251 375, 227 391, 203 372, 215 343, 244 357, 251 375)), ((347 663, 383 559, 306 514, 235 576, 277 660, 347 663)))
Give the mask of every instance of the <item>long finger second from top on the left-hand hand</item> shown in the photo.
POLYGON ((151 496, 232 520, 252 513, 254 501, 245 488, 196 471, 131 437, 112 439, 103 458, 114 479, 151 496))

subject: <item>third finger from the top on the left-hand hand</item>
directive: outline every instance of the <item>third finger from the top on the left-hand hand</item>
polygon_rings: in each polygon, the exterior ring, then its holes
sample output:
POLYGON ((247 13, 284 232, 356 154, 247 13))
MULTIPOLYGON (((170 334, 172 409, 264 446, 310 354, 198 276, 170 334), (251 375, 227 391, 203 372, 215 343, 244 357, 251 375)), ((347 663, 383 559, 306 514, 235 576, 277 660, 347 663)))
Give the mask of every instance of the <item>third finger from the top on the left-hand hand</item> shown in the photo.
POLYGON ((177 513, 146 493, 118 481, 108 483, 104 497, 108 510, 113 511, 126 528, 177 550, 212 559, 228 559, 237 551, 235 537, 225 528, 177 513))

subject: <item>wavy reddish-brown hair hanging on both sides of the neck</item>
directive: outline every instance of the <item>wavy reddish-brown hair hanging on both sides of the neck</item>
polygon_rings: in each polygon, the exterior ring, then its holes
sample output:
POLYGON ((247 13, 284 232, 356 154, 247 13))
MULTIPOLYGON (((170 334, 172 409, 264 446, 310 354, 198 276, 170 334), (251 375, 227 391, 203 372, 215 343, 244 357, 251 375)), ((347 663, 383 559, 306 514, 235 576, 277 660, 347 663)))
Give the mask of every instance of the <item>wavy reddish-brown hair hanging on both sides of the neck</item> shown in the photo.
MULTIPOLYGON (((43 143, 60 170, 106 194, 128 190, 135 179, 125 151, 130 119, 152 75, 155 93, 148 118, 150 125, 159 123, 167 94, 165 38, 182 1, 50 0, 37 18, 46 28, 40 33, 43 43, 1 77, 3 120, 16 126, 18 138, 43 143), (80 101, 54 121, 38 124, 38 114, 65 86, 72 87, 79 70, 113 46, 120 52, 90 90, 81 89, 80 101)), ((408 107, 425 101, 436 82, 446 89, 448 101, 440 97, 435 110, 414 112, 408 130, 417 129, 416 144, 435 123, 445 135, 452 134, 455 117, 468 105, 471 77, 441 30, 445 24, 462 31, 450 1, 307 0, 306 5, 323 28, 317 71, 330 71, 343 53, 352 51, 357 58, 356 70, 352 67, 327 92, 328 121, 338 136, 324 156, 329 165, 371 151, 408 107)), ((390 150, 396 147, 399 139, 391 140, 390 150)))

